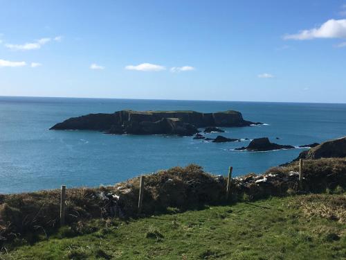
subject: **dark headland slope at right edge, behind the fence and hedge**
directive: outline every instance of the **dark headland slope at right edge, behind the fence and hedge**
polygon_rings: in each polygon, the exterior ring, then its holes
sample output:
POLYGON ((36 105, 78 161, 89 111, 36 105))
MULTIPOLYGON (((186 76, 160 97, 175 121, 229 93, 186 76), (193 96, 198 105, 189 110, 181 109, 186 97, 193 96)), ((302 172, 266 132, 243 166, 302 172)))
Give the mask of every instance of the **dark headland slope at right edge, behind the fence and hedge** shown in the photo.
POLYGON ((333 157, 346 157, 346 137, 325 141, 322 144, 311 148, 310 150, 304 150, 295 160, 333 157))

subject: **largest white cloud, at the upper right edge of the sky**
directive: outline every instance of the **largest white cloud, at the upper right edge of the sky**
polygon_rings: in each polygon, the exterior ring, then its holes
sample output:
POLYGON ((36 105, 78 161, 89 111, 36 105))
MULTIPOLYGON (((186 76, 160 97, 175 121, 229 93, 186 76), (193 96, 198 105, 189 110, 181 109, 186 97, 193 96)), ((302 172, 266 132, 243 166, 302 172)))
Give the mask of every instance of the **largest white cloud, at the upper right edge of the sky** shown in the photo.
POLYGON ((311 40, 316 38, 346 38, 346 19, 330 19, 318 28, 284 35, 284 40, 311 40))

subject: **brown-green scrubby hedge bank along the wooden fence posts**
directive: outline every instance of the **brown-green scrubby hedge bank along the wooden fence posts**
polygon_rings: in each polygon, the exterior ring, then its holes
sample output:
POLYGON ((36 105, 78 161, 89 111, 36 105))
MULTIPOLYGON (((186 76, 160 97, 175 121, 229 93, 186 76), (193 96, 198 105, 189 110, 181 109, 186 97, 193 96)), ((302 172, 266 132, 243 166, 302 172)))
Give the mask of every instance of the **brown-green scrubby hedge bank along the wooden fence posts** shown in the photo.
MULTIPOLYGON (((145 176, 142 216, 163 214, 203 205, 259 200, 270 196, 345 189, 346 159, 318 159, 304 162, 304 181, 298 185, 298 163, 275 167, 264 175, 245 175, 232 180, 226 201, 226 178, 205 173, 200 166, 175 167, 145 176)), ((66 191, 66 224, 82 225, 91 219, 138 217, 139 178, 110 187, 75 188, 66 191), (105 199, 107 193, 119 196, 105 199)), ((39 191, 0 196, 0 236, 3 242, 31 234, 53 234, 59 226, 60 191, 39 191)))

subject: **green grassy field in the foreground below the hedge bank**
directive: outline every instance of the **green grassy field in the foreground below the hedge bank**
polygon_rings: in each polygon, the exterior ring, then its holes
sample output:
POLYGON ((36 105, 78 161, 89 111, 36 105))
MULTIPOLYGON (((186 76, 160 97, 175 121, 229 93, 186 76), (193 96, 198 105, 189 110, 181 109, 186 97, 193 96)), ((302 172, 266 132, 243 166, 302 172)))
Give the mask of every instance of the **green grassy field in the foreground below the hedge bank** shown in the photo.
POLYGON ((31 245, 17 240, 0 259, 345 259, 346 196, 340 193, 93 220, 31 245))

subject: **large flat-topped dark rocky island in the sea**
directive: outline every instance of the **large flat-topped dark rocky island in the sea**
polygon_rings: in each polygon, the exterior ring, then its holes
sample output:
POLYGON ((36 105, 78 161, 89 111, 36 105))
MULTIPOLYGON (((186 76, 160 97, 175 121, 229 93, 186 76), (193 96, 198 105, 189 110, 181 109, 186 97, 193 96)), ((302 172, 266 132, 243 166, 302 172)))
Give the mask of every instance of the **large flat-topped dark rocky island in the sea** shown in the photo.
POLYGON ((194 111, 122 110, 113 114, 88 114, 57 123, 51 130, 98 130, 109 134, 194 135, 197 128, 242 127, 258 123, 246 121, 240 112, 200 113, 194 111))

